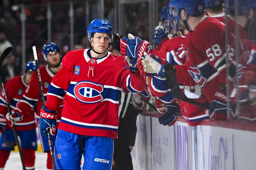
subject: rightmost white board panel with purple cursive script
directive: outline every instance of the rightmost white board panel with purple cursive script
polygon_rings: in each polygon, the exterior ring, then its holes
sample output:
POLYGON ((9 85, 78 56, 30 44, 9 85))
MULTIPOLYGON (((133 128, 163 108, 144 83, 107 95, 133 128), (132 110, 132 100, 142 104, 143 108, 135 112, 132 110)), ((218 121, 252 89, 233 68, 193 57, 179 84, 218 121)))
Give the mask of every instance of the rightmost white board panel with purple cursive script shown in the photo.
POLYGON ((256 133, 238 129, 197 126, 198 169, 256 169, 256 133))

